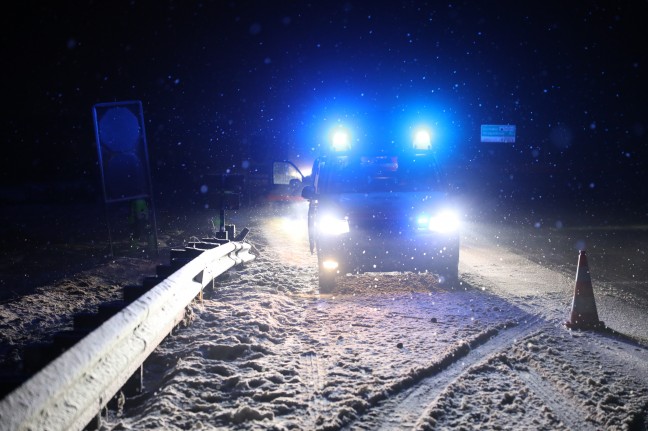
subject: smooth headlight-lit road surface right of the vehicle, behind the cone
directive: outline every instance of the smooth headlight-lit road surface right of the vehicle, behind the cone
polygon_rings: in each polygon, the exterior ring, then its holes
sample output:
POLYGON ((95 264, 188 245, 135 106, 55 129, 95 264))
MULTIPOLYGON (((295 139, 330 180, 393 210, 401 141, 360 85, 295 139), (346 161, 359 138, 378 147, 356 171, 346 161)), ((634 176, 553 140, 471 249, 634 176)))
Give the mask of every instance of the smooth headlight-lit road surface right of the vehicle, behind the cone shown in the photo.
POLYGON ((645 227, 630 232, 468 223, 462 241, 464 281, 556 322, 569 317, 577 246, 589 243, 599 318, 608 328, 648 345, 648 256, 639 245, 646 241, 645 227), (633 241, 619 238, 621 234, 632 236, 633 241))

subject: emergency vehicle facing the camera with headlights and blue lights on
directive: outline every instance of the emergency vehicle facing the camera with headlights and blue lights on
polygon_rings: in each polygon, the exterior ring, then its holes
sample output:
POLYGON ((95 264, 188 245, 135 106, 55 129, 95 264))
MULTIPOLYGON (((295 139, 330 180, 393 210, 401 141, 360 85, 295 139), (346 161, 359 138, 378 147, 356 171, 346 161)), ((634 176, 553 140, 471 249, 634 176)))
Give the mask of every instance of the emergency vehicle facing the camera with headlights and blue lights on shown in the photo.
POLYGON ((406 148, 355 151, 334 136, 313 163, 309 239, 320 292, 348 273, 414 271, 458 278, 459 217, 429 135, 406 148))

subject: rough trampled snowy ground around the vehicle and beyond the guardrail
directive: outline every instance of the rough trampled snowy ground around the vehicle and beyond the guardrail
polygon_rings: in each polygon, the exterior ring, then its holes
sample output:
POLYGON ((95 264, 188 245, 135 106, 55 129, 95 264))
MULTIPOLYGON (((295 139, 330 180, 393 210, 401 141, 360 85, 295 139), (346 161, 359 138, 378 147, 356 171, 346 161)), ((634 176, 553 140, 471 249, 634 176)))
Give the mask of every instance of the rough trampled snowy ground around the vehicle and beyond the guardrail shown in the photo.
MULTIPOLYGON (((256 260, 192 304, 102 429, 645 429, 645 328, 565 329, 573 276, 472 226, 460 285, 364 274, 319 295, 305 209, 233 216, 256 260)), ((3 344, 65 328, 153 267, 115 259, 3 304, 3 344)))

